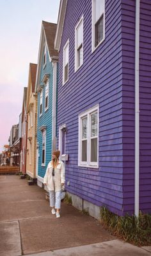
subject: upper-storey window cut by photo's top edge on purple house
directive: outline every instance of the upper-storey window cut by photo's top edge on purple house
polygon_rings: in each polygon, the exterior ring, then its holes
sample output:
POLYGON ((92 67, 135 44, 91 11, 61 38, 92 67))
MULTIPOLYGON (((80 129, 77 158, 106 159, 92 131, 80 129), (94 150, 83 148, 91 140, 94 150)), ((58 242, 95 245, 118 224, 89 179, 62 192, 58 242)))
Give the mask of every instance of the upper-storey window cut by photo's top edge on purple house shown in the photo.
POLYGON ((92 0, 92 51, 105 38, 105 0, 92 0))

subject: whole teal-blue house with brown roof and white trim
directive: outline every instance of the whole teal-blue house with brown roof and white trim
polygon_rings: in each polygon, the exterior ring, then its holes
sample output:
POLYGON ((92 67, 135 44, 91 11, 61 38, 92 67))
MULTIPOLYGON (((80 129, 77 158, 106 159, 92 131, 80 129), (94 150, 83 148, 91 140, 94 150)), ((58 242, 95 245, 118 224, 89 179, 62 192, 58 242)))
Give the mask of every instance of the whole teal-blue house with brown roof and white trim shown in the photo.
POLYGON ((56 24, 42 21, 35 93, 38 93, 36 178, 42 187, 47 164, 56 149, 56 87, 58 51, 54 50, 56 24))

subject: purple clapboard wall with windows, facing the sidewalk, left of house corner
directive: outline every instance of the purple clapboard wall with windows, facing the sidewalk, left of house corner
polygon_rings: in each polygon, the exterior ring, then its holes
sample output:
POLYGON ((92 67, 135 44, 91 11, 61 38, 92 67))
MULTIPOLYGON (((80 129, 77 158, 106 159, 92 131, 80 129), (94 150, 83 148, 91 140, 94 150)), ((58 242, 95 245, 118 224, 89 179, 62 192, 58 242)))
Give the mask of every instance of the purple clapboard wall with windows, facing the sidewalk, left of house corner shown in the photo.
POLYGON ((106 1, 106 39, 91 53, 91 1, 67 2, 61 37, 58 127, 66 123, 67 190, 123 214, 123 91, 121 1, 106 1), (84 62, 74 72, 74 30, 84 15, 84 62), (69 78, 62 86, 63 46, 69 39, 69 78), (78 167, 78 115, 99 104, 99 169, 78 167))

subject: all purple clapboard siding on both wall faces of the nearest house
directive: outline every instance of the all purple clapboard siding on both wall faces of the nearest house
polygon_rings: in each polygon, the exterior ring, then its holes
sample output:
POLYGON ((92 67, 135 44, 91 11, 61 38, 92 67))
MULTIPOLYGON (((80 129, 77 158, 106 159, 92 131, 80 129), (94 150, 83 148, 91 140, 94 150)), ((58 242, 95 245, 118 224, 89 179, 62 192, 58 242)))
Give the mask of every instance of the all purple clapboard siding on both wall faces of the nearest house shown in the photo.
MULTIPOLYGON (((106 37, 91 53, 91 0, 68 0, 59 54, 57 127, 67 126, 66 181, 70 186, 66 188, 119 215, 134 214, 135 8, 133 0, 106 0, 106 37), (75 73, 75 27, 82 15, 84 59, 75 73), (62 86, 63 47, 68 39, 68 82, 62 86), (78 117, 97 104, 99 169, 78 167, 78 117)), ((150 1, 141 0, 139 207, 145 212, 150 210, 151 190, 150 8, 150 1)))

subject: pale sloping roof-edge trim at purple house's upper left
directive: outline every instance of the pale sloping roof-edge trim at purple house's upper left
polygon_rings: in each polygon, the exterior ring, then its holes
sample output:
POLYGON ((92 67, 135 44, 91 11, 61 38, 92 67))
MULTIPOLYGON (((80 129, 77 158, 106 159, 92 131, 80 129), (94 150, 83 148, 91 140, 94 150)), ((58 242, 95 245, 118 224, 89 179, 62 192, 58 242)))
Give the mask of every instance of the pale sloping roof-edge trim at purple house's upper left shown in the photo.
POLYGON ((61 37, 62 37, 62 32, 63 32, 63 24, 64 24, 64 20, 65 20, 67 1, 68 0, 60 0, 60 10, 59 10, 59 14, 58 14, 56 37, 54 39, 54 48, 58 51, 60 51, 60 43, 61 43, 61 37))

